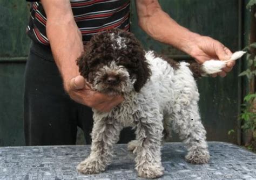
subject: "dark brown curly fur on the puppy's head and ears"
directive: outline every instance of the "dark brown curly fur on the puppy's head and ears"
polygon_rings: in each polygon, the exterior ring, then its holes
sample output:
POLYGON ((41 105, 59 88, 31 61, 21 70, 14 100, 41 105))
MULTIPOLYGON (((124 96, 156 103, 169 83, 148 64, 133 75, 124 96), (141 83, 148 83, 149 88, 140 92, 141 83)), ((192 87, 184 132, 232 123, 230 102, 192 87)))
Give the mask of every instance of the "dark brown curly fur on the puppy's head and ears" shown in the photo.
MULTIPOLYGON (((124 66, 130 78, 135 78, 134 89, 139 92, 151 75, 145 52, 140 42, 130 32, 111 29, 94 35, 85 47, 85 53, 77 60, 79 72, 92 83, 96 71, 111 61, 124 66), (117 38, 123 38, 125 47, 119 48, 117 38)), ((119 77, 118 77, 119 78, 119 77)))

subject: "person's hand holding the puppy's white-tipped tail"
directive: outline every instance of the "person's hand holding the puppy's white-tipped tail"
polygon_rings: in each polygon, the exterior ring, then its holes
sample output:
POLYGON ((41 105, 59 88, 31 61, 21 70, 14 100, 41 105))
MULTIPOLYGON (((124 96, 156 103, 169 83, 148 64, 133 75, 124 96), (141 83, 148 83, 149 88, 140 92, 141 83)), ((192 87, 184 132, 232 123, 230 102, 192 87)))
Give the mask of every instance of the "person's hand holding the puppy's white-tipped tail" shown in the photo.
MULTIPOLYGON (((219 41, 200 35, 193 38, 188 43, 188 47, 190 48, 188 54, 194 57, 194 59, 196 59, 196 61, 199 63, 204 63, 210 59, 225 61, 230 59, 232 55, 230 49, 225 47, 219 41)), ((218 73, 218 75, 225 77, 226 74, 232 70, 234 64, 235 61, 228 62, 226 67, 223 68, 223 71, 218 73)), ((217 74, 212 75, 212 77, 216 76, 217 74)))

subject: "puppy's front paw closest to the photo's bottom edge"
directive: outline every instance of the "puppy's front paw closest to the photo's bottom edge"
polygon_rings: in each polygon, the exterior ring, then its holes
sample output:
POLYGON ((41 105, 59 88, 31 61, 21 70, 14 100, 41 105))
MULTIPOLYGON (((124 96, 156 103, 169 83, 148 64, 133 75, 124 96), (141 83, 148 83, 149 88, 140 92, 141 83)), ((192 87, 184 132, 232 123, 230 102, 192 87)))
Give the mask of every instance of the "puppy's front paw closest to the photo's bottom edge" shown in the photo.
POLYGON ((159 167, 158 166, 151 166, 151 167, 147 167, 146 165, 144 165, 141 168, 138 168, 138 176, 142 177, 142 178, 149 178, 149 179, 153 179, 153 178, 158 178, 163 176, 164 174, 164 168, 163 167, 159 167))

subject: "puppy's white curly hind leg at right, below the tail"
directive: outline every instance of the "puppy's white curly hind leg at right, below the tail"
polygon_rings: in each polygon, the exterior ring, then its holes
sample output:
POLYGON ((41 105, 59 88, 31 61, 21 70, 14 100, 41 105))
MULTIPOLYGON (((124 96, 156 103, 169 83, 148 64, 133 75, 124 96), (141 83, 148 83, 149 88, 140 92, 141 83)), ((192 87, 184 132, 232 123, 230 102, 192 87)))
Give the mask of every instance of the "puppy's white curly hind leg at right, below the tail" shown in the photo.
POLYGON ((197 100, 192 100, 189 105, 174 105, 170 119, 174 132, 179 134, 187 147, 186 161, 193 164, 208 163, 210 155, 206 131, 200 120, 197 100))

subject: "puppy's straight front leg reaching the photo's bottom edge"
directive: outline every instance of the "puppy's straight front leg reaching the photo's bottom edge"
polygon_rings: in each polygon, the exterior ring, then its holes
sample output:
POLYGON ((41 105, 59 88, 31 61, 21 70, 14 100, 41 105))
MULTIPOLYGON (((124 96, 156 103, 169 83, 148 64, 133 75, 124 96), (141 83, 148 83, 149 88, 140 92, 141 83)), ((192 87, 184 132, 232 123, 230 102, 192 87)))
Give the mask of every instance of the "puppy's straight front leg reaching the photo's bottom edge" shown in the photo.
POLYGON ((136 170, 138 176, 144 178, 157 178, 163 175, 164 168, 161 165, 161 138, 163 123, 160 116, 141 118, 137 122, 136 136, 138 146, 136 147, 137 157, 136 170))

